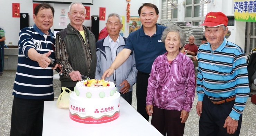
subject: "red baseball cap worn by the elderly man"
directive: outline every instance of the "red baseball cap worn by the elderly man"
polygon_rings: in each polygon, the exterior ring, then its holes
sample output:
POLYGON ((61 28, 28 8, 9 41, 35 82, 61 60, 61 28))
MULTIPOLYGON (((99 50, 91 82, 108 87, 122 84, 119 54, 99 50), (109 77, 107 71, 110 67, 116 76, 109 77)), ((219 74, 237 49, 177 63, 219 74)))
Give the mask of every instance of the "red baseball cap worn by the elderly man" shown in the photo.
POLYGON ((222 12, 209 12, 205 16, 204 22, 201 24, 206 27, 218 27, 220 25, 228 25, 228 18, 222 12))

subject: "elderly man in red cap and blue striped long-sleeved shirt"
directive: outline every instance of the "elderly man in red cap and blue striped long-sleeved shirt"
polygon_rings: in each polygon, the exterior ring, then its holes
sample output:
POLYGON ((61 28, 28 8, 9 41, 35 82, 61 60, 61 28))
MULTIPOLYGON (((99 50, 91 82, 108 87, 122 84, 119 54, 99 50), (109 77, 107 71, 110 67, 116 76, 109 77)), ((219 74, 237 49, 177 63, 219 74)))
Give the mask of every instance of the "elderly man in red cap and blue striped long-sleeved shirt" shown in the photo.
POLYGON ((222 12, 205 16, 207 44, 198 50, 196 112, 199 136, 239 136, 250 93, 243 49, 226 40, 228 18, 222 12))

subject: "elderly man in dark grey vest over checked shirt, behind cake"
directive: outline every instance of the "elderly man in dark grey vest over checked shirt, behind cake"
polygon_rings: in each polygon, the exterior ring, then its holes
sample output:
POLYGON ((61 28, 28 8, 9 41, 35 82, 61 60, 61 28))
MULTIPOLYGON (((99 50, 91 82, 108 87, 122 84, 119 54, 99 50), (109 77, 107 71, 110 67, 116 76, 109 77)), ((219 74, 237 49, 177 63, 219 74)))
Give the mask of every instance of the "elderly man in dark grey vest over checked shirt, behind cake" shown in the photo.
MULTIPOLYGON (((62 65, 61 86, 74 91, 81 75, 95 77, 95 36, 83 25, 85 8, 80 2, 72 2, 67 13, 70 24, 56 34, 56 61, 62 65)), ((62 91, 61 91, 62 92, 62 91)))

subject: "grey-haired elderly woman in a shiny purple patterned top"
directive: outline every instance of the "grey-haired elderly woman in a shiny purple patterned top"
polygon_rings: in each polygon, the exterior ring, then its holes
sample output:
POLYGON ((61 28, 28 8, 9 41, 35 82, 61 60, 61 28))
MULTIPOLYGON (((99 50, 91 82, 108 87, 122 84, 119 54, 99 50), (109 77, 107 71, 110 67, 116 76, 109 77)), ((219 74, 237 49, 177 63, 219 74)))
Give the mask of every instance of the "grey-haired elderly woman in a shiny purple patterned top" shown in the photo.
POLYGON ((176 25, 161 38, 167 52, 158 56, 148 79, 146 111, 151 124, 163 135, 182 136, 195 96, 193 62, 180 50, 186 34, 176 25))

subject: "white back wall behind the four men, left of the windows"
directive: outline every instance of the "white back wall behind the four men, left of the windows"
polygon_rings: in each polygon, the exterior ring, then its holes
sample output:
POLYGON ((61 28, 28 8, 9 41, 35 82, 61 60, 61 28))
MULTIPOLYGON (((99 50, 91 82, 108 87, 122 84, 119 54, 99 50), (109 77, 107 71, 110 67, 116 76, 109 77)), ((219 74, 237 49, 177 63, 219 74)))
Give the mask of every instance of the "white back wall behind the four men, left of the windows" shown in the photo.
MULTIPOLYGON (((160 1, 161 0, 131 0, 129 3, 130 5, 130 16, 138 16, 138 9, 143 3, 153 3, 155 4, 159 12, 161 11, 160 8, 160 1)), ((9 42, 12 42, 13 45, 18 45, 19 40, 19 31, 20 31, 20 19, 19 18, 12 18, 12 3, 20 3, 20 13, 28 13, 29 14, 29 26, 34 24, 33 21, 33 2, 32 0, 0 0, 1 3, 1 19, 0 19, 0 26, 6 31, 6 44, 8 45, 9 42)), ((51 3, 55 9, 54 14, 54 25, 51 28, 53 29, 63 29, 65 26, 59 25, 61 9, 65 9, 65 14, 67 17, 68 6, 69 4, 57 4, 51 3)), ((126 17, 126 7, 127 1, 126 0, 93 0, 93 5, 84 5, 90 6, 91 15, 99 15, 99 7, 106 7, 106 17, 108 14, 115 12, 122 16, 126 17)), ((161 15, 159 14, 159 17, 161 15)), ((90 17, 91 19, 91 17, 90 17)), ((125 20, 126 21, 126 20, 125 20)), ((68 24, 70 20, 67 18, 66 24, 68 24)), ((103 29, 106 25, 105 21, 100 21, 100 30, 103 29)), ((85 20, 83 23, 85 26, 91 26, 91 20, 85 20)), ((128 36, 127 30, 127 23, 125 27, 125 34, 124 36, 128 36)))

